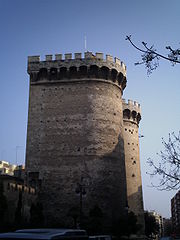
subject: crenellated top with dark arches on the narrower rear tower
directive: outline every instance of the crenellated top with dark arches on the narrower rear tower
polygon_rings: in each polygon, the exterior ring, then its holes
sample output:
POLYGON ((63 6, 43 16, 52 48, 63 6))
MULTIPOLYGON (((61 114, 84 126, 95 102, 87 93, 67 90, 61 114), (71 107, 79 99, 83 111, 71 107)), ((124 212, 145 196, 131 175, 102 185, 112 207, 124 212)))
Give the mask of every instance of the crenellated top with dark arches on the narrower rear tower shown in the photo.
POLYGON ((123 120, 131 121, 139 125, 141 120, 141 107, 136 101, 122 99, 123 104, 123 120))

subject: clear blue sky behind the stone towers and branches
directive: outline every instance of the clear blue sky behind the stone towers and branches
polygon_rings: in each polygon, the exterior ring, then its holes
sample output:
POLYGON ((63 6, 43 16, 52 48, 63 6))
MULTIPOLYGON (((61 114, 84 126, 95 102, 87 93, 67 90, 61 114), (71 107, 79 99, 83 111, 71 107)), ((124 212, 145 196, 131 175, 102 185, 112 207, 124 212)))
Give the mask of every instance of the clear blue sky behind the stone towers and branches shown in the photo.
POLYGON ((126 99, 142 107, 140 133, 144 206, 170 216, 175 192, 148 187, 148 157, 162 149, 161 137, 179 131, 180 65, 160 62, 149 77, 134 66, 140 54, 125 41, 147 41, 162 53, 179 47, 179 0, 0 0, 0 159, 24 162, 29 81, 27 56, 84 52, 119 57, 127 65, 126 99))

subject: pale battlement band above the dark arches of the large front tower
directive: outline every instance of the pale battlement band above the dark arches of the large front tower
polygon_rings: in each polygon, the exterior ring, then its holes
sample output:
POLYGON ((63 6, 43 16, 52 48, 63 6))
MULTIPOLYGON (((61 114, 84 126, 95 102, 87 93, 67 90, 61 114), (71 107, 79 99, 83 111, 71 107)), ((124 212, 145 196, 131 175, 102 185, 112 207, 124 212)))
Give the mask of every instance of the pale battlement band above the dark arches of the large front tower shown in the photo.
POLYGON ((41 60, 40 56, 28 56, 28 73, 37 72, 41 68, 59 68, 66 67, 70 68, 72 66, 80 67, 83 65, 97 65, 98 67, 108 67, 109 69, 116 69, 118 72, 122 72, 126 76, 126 66, 117 57, 113 58, 111 55, 106 55, 103 58, 103 53, 97 52, 95 55, 92 52, 85 52, 84 58, 82 53, 74 53, 74 58, 72 58, 72 53, 46 55, 45 60, 41 60))

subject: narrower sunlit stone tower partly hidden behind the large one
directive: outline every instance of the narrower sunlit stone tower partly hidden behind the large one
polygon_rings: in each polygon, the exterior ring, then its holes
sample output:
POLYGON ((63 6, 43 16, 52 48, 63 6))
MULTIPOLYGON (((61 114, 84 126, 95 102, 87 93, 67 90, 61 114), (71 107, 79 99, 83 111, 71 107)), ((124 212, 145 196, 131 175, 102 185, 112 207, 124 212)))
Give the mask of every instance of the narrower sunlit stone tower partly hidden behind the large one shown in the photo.
POLYGON ((123 129, 127 182, 127 199, 129 211, 137 216, 138 223, 144 230, 144 209, 139 157, 139 122, 141 120, 140 104, 123 99, 123 129))

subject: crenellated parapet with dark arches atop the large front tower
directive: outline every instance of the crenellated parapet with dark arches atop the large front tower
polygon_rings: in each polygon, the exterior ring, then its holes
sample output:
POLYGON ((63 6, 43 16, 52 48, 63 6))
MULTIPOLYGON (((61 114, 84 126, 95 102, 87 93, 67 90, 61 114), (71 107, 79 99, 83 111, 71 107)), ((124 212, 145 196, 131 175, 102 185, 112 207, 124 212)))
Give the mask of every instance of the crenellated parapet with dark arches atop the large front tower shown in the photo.
POLYGON ((46 55, 45 60, 40 56, 28 57, 28 73, 31 84, 49 81, 67 81, 69 79, 103 79, 110 80, 124 89, 126 87, 126 66, 119 58, 113 58, 103 53, 81 53, 46 55))

